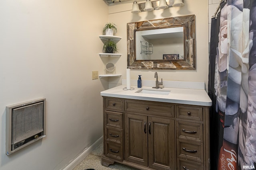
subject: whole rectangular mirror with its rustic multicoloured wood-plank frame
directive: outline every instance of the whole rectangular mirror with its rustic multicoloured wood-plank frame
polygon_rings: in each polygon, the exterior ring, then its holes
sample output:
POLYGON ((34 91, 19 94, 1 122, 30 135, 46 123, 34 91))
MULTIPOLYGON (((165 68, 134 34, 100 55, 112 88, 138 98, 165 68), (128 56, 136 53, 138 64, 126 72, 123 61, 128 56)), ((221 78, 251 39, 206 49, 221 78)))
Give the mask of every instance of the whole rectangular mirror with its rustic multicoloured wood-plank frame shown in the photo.
POLYGON ((195 70, 195 15, 127 23, 127 66, 131 69, 195 70), (176 29, 175 35, 171 28, 176 29), (151 31, 153 33, 148 33, 151 31), (178 34, 183 35, 181 40, 176 39, 178 34))

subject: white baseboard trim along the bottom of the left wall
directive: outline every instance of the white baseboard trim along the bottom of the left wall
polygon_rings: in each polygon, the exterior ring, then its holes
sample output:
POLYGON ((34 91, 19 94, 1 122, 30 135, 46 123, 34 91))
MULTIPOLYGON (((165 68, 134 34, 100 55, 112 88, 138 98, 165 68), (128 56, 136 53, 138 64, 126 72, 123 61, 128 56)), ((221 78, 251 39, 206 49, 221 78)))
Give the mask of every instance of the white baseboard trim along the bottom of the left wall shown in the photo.
POLYGON ((100 139, 98 139, 96 142, 94 142, 88 149, 84 150, 84 152, 82 152, 77 158, 75 158, 72 162, 70 162, 70 164, 68 164, 68 166, 66 166, 63 170, 74 169, 76 165, 82 162, 84 158, 86 158, 86 156, 88 156, 102 142, 103 142, 103 136, 100 137, 100 139))

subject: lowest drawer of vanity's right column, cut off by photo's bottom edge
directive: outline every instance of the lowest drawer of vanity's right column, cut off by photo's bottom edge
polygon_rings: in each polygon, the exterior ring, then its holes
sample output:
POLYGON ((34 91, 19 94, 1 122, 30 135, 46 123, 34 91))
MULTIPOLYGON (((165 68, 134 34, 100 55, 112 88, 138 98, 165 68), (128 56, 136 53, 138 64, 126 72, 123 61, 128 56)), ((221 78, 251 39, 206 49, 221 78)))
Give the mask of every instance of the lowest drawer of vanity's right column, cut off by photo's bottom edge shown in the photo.
POLYGON ((191 160, 178 158, 178 170, 203 170, 202 164, 191 160))

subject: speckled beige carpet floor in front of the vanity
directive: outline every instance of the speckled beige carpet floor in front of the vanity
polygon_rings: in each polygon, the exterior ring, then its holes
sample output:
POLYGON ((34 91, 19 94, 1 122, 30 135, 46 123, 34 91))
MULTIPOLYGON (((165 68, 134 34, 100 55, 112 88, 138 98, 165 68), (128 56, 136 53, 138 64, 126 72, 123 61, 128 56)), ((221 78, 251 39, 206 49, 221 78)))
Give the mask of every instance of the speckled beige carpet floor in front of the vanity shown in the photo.
POLYGON ((94 149, 82 162, 80 162, 73 170, 86 170, 93 168, 95 170, 138 170, 119 163, 114 163, 108 167, 101 165, 101 155, 103 153, 103 143, 94 149))

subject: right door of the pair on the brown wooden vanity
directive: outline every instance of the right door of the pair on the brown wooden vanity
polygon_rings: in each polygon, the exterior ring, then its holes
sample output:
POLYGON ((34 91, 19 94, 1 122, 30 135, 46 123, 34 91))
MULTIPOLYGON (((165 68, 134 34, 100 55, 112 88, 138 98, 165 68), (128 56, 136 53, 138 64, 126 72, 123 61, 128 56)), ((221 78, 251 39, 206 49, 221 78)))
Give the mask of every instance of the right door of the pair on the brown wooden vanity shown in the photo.
POLYGON ((174 170, 175 153, 174 120, 148 117, 148 166, 174 170))

